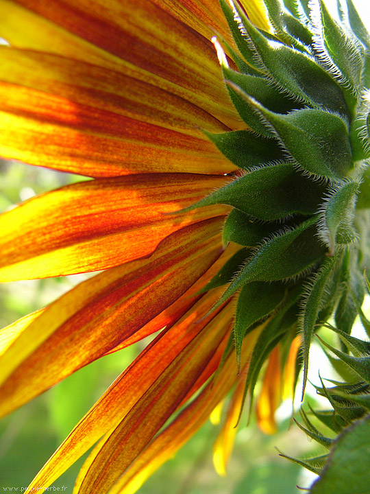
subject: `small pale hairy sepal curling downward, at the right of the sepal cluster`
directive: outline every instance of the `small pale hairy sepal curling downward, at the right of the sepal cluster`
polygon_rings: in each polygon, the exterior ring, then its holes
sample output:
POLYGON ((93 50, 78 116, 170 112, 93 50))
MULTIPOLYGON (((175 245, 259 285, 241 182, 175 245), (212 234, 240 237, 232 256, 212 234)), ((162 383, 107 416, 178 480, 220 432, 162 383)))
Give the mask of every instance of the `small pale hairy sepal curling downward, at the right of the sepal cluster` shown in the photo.
MULTIPOLYGON (((343 243, 343 230, 351 228, 358 187, 357 182, 347 181, 341 184, 330 193, 321 206, 319 235, 327 244, 330 255, 334 254, 338 240, 343 243), (340 234, 338 239, 337 233, 340 234)), ((356 233, 349 237, 356 237, 356 233)))

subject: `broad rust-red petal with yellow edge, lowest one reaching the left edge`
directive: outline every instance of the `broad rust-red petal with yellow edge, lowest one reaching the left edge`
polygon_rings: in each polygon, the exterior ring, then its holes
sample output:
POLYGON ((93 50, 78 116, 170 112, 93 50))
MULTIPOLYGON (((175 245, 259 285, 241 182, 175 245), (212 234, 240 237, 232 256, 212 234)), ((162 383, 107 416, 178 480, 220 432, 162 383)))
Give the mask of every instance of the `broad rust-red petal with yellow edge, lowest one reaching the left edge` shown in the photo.
POLYGON ((52 303, 1 357, 0 413, 132 336, 186 292, 217 259, 220 248, 217 218, 183 228, 149 259, 98 274, 52 303))

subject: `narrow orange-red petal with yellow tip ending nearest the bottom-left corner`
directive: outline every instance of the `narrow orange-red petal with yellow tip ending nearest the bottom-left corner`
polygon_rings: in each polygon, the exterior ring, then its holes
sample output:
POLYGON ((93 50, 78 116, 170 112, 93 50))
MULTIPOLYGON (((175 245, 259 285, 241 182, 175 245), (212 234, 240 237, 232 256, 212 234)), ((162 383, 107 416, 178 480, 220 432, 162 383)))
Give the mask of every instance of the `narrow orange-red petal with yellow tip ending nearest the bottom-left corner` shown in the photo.
POLYGON ((68 438, 38 473, 32 486, 51 484, 77 458, 82 456, 103 434, 118 425, 122 416, 149 389, 172 362, 173 357, 206 327, 214 316, 204 315, 221 296, 222 290, 208 292, 171 329, 160 335, 108 388, 68 438))

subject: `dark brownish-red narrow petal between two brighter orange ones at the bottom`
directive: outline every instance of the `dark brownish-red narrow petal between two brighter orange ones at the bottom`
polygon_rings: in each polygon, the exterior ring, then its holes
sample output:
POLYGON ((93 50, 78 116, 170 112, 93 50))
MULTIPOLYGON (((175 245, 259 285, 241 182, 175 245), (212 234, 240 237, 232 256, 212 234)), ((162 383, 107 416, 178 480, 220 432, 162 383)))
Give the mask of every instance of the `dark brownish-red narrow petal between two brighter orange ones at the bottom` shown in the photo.
POLYGON ((103 445, 99 444, 97 451, 91 453, 93 461, 88 458, 88 469, 80 483, 77 480, 76 493, 108 492, 169 419, 225 335, 229 325, 222 320, 223 312, 231 322, 232 314, 227 307, 176 355, 103 445))

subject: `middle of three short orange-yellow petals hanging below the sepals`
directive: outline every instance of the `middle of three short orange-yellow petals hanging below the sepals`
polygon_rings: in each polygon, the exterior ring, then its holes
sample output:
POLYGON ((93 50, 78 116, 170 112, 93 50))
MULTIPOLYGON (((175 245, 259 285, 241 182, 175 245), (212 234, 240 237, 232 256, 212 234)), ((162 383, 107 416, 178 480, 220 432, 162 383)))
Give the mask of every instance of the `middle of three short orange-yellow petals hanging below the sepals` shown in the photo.
POLYGON ((276 432, 275 411, 280 405, 281 393, 280 346, 277 345, 269 357, 256 405, 258 425, 265 434, 276 432))

